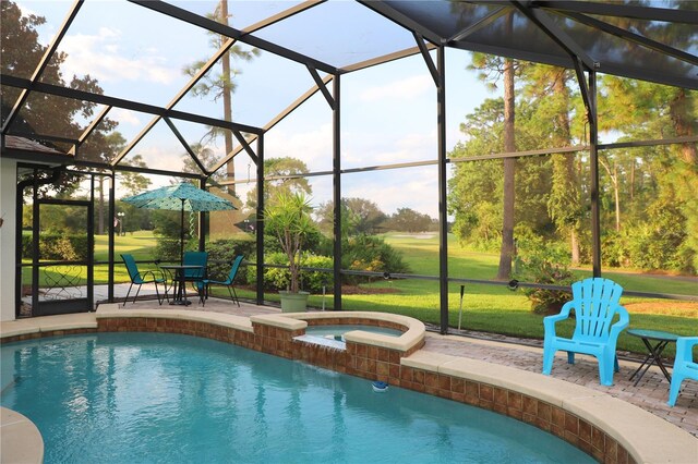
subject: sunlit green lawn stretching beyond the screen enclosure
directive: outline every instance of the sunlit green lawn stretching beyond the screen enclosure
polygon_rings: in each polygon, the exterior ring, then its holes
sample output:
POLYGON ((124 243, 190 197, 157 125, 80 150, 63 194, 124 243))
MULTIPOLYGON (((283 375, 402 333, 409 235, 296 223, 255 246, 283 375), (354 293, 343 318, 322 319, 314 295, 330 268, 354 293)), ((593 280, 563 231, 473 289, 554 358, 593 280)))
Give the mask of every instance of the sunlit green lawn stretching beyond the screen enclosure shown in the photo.
MULTIPOLYGON (((410 266, 412 273, 421 276, 436 276, 438 273, 438 242, 437 237, 418 239, 402 234, 388 234, 386 241, 399 249, 410 266)), ((151 232, 135 232, 127 236, 116 237, 115 280, 127 282, 129 277, 121 264, 119 255, 131 253, 136 259, 152 259, 156 241, 151 232)), ((107 236, 95 237, 95 259, 107 260, 107 236)), ((453 278, 492 280, 496 276, 498 256, 495 254, 477 253, 462 249, 458 243, 449 237, 448 272, 453 278)), ((141 265, 144 269, 154 266, 141 265)), ((107 282, 107 266, 95 268, 95 282, 107 282)), ((591 274, 590 270, 575 271, 579 278, 591 274)), ((640 273, 619 273, 604 271, 604 276, 621 283, 626 290, 643 292, 696 294, 695 282, 685 279, 673 279, 665 276, 647 276, 640 273)), ((414 317, 424 322, 440 323, 438 282, 420 279, 376 280, 361 285, 371 290, 368 294, 342 295, 342 307, 346 310, 376 310, 397 313, 414 317)), ((458 325, 459 284, 449 285, 448 320, 452 327, 458 325)), ((216 289, 227 297, 225 289, 216 289)), ((244 289, 239 290, 241 297, 254 298, 255 294, 244 289)), ((274 293, 267 293, 266 300, 278 301, 274 293)), ((322 295, 311 295, 311 306, 322 306, 322 295)), ((686 314, 682 310, 672 312, 671 308, 659 310, 659 314, 634 313, 633 303, 645 302, 666 305, 666 301, 624 297, 622 303, 630 307, 630 327, 642 327, 655 330, 669 330, 683 335, 695 335, 698 332, 698 308, 686 314)), ((325 297, 327 308, 333 306, 333 296, 325 297)), ((512 292, 502 285, 466 284, 464 297, 462 328, 492 333, 542 339, 542 316, 530 312, 530 303, 521 291, 512 292)), ((562 334, 571 334, 573 321, 562 325, 562 334)), ((645 346, 639 339, 627 334, 621 335, 618 349, 637 353, 645 353, 645 346)), ((666 353, 673 355, 667 347, 666 353)))

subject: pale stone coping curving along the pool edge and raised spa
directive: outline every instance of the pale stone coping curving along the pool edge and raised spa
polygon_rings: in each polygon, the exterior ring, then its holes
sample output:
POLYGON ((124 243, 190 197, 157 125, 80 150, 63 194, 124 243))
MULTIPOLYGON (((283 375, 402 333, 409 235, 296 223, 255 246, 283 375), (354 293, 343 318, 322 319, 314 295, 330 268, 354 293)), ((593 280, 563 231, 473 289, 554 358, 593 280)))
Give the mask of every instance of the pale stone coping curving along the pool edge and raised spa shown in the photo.
MULTIPOLYGON (((609 396, 603 392, 576 386, 541 374, 490 364, 478 359, 469 359, 419 350, 410 353, 410 346, 414 350, 413 346, 419 345, 420 340, 423 341, 424 330, 422 329, 420 335, 420 325, 421 328, 423 328, 423 323, 406 316, 385 313, 342 312, 341 314, 285 313, 278 315, 251 316, 248 318, 197 310, 122 310, 119 308, 119 305, 101 305, 96 314, 49 316, 3 322, 0 327, 0 341, 5 339, 24 339, 53 334, 60 335, 95 332, 98 330, 103 331, 103 328, 99 327, 100 319, 140 319, 156 321, 153 325, 153 330, 157 331, 177 331, 179 327, 176 325, 168 326, 167 323, 157 323, 158 320, 160 322, 167 322, 168 320, 174 322, 192 321, 201 322, 201 330, 205 330, 206 326, 213 325, 253 337, 253 323, 265 323, 270 327, 277 327, 281 330, 289 330, 293 333, 304 331, 304 328, 308 326, 308 319, 330 319, 337 318, 338 316, 380 319, 400 325, 407 323, 407 326, 404 327, 408 327, 408 330, 400 337, 405 337, 405 340, 399 343, 396 342, 393 337, 389 338, 392 340, 385 340, 388 339, 387 335, 377 333, 352 331, 347 332, 347 334, 356 337, 354 341, 358 343, 364 343, 376 347, 402 350, 407 356, 399 359, 400 366, 405 369, 414 370, 416 373, 432 374, 436 377, 437 382, 448 380, 448 384, 450 386, 460 380, 460 382, 472 382, 482 386, 486 384, 492 386, 494 390, 500 389, 505 392, 505 394, 507 391, 518 392, 519 396, 527 395, 545 404, 552 405, 556 410, 566 413, 566 415, 563 414, 561 419, 563 427, 562 438, 565 438, 565 434, 569 431, 568 429, 578 430, 578 434, 581 434, 580 425, 588 424, 593 428, 603 431, 612 440, 615 440, 615 442, 623 447, 623 449, 627 451, 628 461, 631 462, 686 463, 696 462, 698 459, 698 440, 690 434, 647 411, 622 400, 609 396), (406 334, 409 335, 406 337, 406 334), (385 346, 386 343, 388 346, 385 346), (417 343, 417 345, 414 343, 417 343), (579 419, 577 423, 573 423, 570 417, 577 417, 579 419)), ((128 325, 122 327, 124 331, 129 329, 128 325)), ((107 329, 104 331, 106 330, 107 329)), ((121 330, 121 328, 119 330, 121 330)), ((426 382, 424 382, 424 384, 426 384, 426 382)), ((409 382, 406 382, 405 387, 410 388, 409 382)), ((464 387, 460 388, 462 391, 464 387)), ((436 393, 446 398, 450 394, 452 399, 457 398, 457 394, 452 392, 450 387, 448 387, 447 390, 441 390, 438 392, 435 390, 430 391, 429 388, 426 390, 422 389, 422 391, 426 391, 432 394, 436 393)), ((491 408, 502 412, 496 407, 491 408)), ((506 411, 503 413, 507 414, 506 411)), ((535 422, 525 422, 537 425, 535 422)), ((559 434, 556 435, 559 436, 559 434)), ((40 435, 38 438, 40 440, 40 435)), ((43 441, 40 444, 43 455, 43 441)), ((594 456, 598 457, 595 454, 594 456)), ((606 455, 604 454, 604 456, 606 455)), ((616 456, 617 454, 612 453, 610 457, 613 459, 609 459, 609 456, 606 456, 606 459, 614 461, 616 456)))

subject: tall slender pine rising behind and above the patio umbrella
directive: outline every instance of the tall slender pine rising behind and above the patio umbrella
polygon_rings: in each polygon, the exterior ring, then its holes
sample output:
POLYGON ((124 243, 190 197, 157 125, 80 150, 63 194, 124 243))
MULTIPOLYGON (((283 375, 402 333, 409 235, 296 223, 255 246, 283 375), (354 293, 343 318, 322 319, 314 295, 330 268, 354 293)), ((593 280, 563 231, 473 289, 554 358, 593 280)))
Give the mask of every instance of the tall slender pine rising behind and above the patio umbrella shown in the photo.
MULTIPOLYGON (((216 5, 216 10, 212 14, 208 14, 207 17, 218 21, 227 26, 228 20, 231 17, 231 14, 228 13, 228 0, 220 0, 216 5)), ((226 40, 228 40, 228 37, 226 36, 212 34, 210 46, 218 50, 226 40)), ((210 72, 206 73, 206 75, 193 87, 192 94, 197 97, 212 95, 214 101, 218 101, 218 99, 222 98, 224 120, 232 121, 232 94, 236 91, 233 77, 241 74, 242 71, 239 69, 231 70, 230 60, 250 61, 258 54, 260 50, 256 48, 245 50, 238 44, 233 45, 230 50, 221 57, 220 74, 214 74, 210 72)), ((190 76, 195 75, 205 63, 206 60, 202 60, 185 66, 183 70, 184 74, 190 76)), ((222 134, 226 144, 226 154, 230 154, 232 151, 232 134, 230 131, 220 130, 219 127, 209 127, 208 134, 210 138, 216 138, 222 134)), ((231 159, 226 164, 226 174, 228 181, 234 181, 234 160, 231 159)), ((230 184, 228 193, 236 196, 234 184, 230 184)))

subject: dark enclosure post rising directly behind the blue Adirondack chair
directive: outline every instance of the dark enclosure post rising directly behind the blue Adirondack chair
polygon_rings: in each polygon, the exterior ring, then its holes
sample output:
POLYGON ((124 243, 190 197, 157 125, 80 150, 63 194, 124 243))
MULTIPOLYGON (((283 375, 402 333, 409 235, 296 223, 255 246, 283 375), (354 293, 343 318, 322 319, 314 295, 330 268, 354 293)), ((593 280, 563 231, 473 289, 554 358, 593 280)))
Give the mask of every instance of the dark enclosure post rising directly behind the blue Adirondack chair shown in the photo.
POLYGON ((589 71, 589 164, 591 170, 591 264, 593 277, 601 277, 601 225, 599 210, 599 127, 597 72, 589 71))

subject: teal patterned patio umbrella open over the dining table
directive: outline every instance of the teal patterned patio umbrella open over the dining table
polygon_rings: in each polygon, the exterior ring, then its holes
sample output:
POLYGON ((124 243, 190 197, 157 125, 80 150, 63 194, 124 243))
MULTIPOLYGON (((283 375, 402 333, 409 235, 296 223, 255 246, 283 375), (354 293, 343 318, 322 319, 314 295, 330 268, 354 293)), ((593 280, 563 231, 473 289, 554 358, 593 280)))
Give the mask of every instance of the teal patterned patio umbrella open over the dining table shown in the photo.
POLYGON ((184 211, 220 211, 236 209, 230 202, 182 182, 121 199, 136 208, 181 211, 180 261, 184 256, 184 211))

